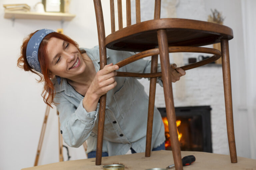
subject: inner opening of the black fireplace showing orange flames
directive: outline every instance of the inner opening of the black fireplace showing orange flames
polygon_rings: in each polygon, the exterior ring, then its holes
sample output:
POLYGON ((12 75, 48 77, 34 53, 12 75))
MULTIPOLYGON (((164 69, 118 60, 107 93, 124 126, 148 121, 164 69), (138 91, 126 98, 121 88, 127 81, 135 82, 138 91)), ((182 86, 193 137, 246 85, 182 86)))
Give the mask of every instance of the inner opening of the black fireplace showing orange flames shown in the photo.
MULTIPOLYGON (((167 117, 163 117, 165 128, 165 149, 171 150, 167 117)), ((200 116, 177 117, 178 139, 183 151, 203 151, 202 120, 200 116)))

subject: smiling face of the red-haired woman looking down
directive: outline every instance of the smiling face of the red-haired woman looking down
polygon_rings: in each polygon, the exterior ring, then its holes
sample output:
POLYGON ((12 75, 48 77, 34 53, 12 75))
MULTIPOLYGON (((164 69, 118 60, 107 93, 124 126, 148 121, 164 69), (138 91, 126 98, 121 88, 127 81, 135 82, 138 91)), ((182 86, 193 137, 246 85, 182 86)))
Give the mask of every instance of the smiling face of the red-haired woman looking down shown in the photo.
POLYGON ((52 37, 46 50, 52 75, 73 79, 85 70, 85 62, 74 44, 52 37))

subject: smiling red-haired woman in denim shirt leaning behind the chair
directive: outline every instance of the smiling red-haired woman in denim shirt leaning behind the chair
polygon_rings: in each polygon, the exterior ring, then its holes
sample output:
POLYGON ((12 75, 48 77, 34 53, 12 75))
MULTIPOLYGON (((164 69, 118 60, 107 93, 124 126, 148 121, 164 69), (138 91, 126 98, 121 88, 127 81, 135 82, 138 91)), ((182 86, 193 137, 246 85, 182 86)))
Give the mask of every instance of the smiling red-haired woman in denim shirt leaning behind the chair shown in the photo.
MULTIPOLYGON (((99 98, 107 93, 102 156, 145 152, 148 96, 139 81, 115 77, 116 70, 150 72, 149 60, 138 60, 124 67, 113 65, 134 53, 107 49, 107 62, 99 66, 99 48, 78 48, 78 44, 53 30, 42 29, 28 36, 21 46, 18 66, 39 75, 44 82, 46 104, 59 111, 61 133, 71 147, 88 143, 88 158, 95 157, 99 98)), ((160 66, 159 66, 160 70, 160 66)), ((171 69, 173 82, 185 71, 171 69)), ((157 82, 162 86, 161 79, 157 82)), ((154 109, 152 150, 164 149, 164 126, 154 109)))

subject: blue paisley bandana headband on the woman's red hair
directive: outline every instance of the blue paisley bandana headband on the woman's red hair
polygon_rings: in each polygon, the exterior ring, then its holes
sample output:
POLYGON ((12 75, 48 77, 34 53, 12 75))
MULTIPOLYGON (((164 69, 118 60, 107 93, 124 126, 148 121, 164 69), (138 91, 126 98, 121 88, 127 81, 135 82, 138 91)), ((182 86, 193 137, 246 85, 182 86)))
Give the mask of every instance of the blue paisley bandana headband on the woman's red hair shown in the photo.
MULTIPOLYGON (((39 30, 28 41, 27 50, 26 50, 28 64, 39 73, 42 73, 40 63, 38 61, 38 49, 39 49, 40 43, 42 42, 45 36, 53 32, 55 31, 48 30, 48 29, 39 30)), ((60 84, 61 78, 59 76, 56 76, 56 79, 60 84)))

